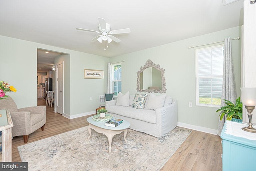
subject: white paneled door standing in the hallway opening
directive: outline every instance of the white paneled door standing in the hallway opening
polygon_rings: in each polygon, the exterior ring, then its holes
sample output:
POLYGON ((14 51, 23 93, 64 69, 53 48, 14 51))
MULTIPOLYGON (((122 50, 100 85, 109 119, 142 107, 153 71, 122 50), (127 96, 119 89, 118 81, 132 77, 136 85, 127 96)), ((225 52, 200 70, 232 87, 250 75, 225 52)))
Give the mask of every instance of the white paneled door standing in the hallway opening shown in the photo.
POLYGON ((63 115, 63 61, 56 64, 55 112, 63 115))

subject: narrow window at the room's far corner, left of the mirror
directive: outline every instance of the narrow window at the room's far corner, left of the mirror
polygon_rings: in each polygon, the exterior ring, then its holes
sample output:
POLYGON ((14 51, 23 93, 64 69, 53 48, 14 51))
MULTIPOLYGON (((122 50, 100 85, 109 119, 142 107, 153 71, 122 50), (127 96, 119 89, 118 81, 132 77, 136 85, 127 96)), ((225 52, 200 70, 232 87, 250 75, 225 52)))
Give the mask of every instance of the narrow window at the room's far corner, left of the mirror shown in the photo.
POLYGON ((122 65, 116 64, 113 66, 113 88, 114 95, 118 95, 119 92, 122 92, 122 65))

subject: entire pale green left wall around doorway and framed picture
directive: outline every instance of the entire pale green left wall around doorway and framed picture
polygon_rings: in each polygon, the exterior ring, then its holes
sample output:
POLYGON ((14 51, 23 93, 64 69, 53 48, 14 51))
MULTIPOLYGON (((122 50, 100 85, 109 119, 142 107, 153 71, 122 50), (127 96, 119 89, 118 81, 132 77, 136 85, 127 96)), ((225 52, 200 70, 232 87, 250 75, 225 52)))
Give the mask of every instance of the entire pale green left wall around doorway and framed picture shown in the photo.
POLYGON ((10 95, 18 108, 37 105, 37 48, 70 54, 70 80, 65 82, 67 87, 70 86, 70 95, 64 97, 70 99, 65 102, 66 114, 95 111, 98 95, 106 92, 109 58, 0 36, 0 79, 17 89, 10 95), (104 79, 84 79, 85 68, 104 70, 104 79))

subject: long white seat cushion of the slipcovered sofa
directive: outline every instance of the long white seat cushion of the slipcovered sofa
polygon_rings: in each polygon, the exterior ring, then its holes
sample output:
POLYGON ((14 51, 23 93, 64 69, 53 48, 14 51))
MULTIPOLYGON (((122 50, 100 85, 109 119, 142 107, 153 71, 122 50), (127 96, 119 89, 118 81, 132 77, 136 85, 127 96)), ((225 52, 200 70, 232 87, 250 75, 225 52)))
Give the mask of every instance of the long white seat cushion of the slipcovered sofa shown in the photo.
POLYGON ((110 106, 108 107, 108 113, 114 113, 117 115, 122 115, 125 117, 130 117, 149 123, 156 123, 156 111, 154 110, 144 110, 136 109, 133 107, 124 107, 124 106, 110 106))

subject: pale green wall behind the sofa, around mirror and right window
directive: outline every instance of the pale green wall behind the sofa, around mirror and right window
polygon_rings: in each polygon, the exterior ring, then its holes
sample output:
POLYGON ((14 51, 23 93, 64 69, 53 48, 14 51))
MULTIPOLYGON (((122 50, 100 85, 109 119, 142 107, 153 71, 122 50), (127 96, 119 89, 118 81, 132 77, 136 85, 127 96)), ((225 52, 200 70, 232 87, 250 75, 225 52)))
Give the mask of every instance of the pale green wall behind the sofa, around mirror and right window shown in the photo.
MULTIPOLYGON (((195 72, 195 49, 189 46, 197 46, 219 42, 224 38, 237 38, 240 36, 240 27, 234 27, 211 34, 197 36, 162 46, 141 50, 121 56, 110 58, 110 62, 122 63, 122 91, 136 91, 136 72, 144 66, 148 59, 159 64, 165 69, 167 95, 178 100, 178 122, 187 123, 211 129, 217 129, 218 114, 216 107, 196 106, 196 72, 195 72), (192 102, 193 107, 188 107, 192 102)), ((214 44, 218 45, 218 44, 214 44)), ((212 45, 211 45, 212 46, 212 45)), ((206 46, 201 46, 204 48, 206 46)), ((240 95, 240 40, 232 40, 232 55, 234 74, 236 79, 237 95, 240 95)))

